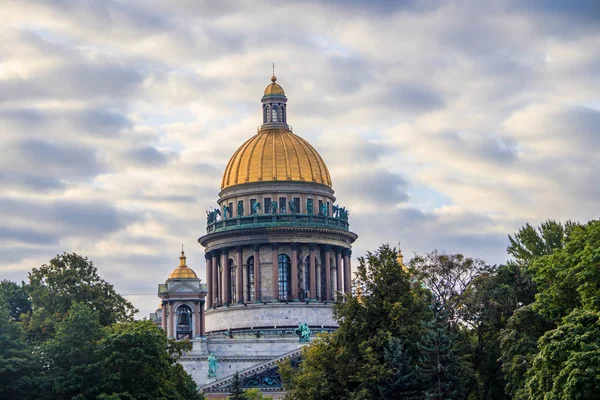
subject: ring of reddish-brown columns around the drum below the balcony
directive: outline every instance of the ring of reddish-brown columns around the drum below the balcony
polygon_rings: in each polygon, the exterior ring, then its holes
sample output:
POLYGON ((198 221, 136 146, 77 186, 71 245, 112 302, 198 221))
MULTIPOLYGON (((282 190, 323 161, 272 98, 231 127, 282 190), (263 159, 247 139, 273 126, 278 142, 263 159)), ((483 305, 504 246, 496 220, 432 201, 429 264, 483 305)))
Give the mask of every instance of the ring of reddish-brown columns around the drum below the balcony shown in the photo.
MULTIPOLYGON (((208 294, 206 298, 207 308, 229 305, 232 303, 245 303, 248 301, 248 291, 244 291, 248 285, 248 271, 244 268, 244 250, 246 250, 246 259, 249 259, 250 254, 253 256, 252 272, 253 272, 253 300, 254 301, 271 301, 271 300, 285 300, 285 301, 331 301, 334 299, 334 281, 335 287, 339 292, 350 292, 351 291, 351 254, 352 251, 342 246, 332 245, 321 245, 321 244, 310 244, 308 245, 308 251, 304 252, 303 259, 308 255, 309 259, 309 274, 308 280, 310 281, 309 288, 301 288, 299 285, 299 269, 302 270, 302 277, 306 276, 304 268, 306 266, 298 265, 298 255, 302 250, 302 245, 295 243, 269 243, 263 245, 251 246, 251 252, 248 252, 246 246, 236 246, 231 248, 221 248, 219 250, 209 251, 205 254, 206 258, 206 278, 208 286, 208 294), (282 246, 286 245, 286 248, 291 249, 290 252, 280 252, 282 246), (261 248, 262 254, 265 255, 265 250, 271 253, 271 287, 261 287, 261 248), (267 248, 267 249, 265 249, 267 248), (235 258, 229 257, 231 250, 235 249, 235 258), (317 251, 319 260, 317 260, 317 251), (291 264, 289 276, 285 285, 290 286, 289 293, 285 290, 285 296, 281 297, 280 287, 280 269, 279 269, 279 256, 285 254, 289 257, 291 264), (324 274, 318 274, 318 271, 323 268, 321 259, 324 259, 324 274), (230 265, 230 260, 232 261, 230 265), (317 262, 318 261, 318 262, 317 262), (235 268, 235 290, 232 291, 231 285, 231 268, 235 268), (335 276, 332 278, 332 271, 335 269, 335 276), (317 280, 321 279, 324 275, 324 291, 320 287, 317 287, 317 280), (319 276, 319 278, 317 278, 319 276), (333 281, 332 281, 333 279, 333 281), (307 290, 308 289, 308 290, 307 290), (270 293, 270 295, 265 295, 270 293), (245 296, 246 295, 246 299, 245 296)), ((306 246, 306 245, 305 245, 306 246)), ((306 250, 306 247, 304 247, 306 250)), ((263 257, 265 258, 265 257, 263 257)), ((267 262, 263 262, 262 266, 265 266, 267 262)), ((304 264, 304 262, 302 262, 304 264)), ((250 268, 248 264, 246 268, 250 268)), ((284 278, 285 279, 285 278, 284 278)), ((301 278, 302 279, 302 278, 301 278)), ((302 279, 304 281, 304 279, 302 279)))

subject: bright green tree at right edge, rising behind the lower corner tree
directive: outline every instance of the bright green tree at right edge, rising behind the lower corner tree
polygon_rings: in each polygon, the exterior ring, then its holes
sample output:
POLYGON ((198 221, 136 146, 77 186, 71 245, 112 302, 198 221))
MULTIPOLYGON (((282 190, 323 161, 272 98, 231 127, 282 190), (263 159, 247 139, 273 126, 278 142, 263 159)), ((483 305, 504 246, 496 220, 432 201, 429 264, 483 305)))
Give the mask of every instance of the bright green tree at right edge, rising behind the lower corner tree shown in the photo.
POLYGON ((530 225, 511 238, 509 253, 531 276, 535 301, 516 310, 501 334, 506 391, 528 399, 526 371, 539 353, 538 340, 577 308, 600 310, 600 221, 530 225))

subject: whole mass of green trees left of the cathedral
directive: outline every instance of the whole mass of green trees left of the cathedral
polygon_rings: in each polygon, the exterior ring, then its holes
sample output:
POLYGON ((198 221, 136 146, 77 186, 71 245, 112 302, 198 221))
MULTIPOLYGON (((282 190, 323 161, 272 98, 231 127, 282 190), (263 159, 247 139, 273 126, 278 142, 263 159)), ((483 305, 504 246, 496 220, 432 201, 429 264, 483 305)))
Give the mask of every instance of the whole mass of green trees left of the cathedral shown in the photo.
POLYGON ((0 283, 0 398, 203 398, 177 363, 190 343, 134 321, 135 308, 87 258, 65 253, 29 278, 0 283))

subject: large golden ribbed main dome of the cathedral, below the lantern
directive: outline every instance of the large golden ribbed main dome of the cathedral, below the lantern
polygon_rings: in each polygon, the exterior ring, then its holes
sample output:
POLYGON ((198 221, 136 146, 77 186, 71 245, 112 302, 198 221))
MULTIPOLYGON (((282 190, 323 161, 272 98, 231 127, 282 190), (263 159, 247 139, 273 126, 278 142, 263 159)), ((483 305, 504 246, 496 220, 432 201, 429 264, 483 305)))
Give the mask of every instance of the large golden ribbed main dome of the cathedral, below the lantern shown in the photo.
POLYGON ((317 151, 287 129, 264 129, 233 154, 221 189, 241 183, 303 181, 331 186, 331 176, 317 151))

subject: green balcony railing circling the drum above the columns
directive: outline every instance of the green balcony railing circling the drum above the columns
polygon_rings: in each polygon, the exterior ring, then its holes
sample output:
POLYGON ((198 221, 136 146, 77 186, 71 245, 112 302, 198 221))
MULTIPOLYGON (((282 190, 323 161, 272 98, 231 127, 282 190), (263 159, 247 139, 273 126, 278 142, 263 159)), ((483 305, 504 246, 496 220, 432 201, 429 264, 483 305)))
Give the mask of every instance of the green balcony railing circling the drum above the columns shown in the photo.
POLYGON ((243 228, 263 228, 270 226, 306 226, 349 230, 348 221, 324 215, 309 214, 254 214, 243 217, 226 218, 209 224, 207 233, 223 232, 243 228))

